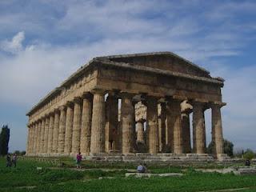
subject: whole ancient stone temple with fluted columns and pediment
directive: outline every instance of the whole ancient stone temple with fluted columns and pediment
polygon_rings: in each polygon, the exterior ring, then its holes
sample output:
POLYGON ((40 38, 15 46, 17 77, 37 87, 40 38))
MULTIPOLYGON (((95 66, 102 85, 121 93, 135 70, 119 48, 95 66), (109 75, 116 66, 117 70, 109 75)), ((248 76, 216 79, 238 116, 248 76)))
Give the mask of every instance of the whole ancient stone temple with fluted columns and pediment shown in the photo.
POLYGON ((26 114, 27 155, 208 157, 211 110, 213 156, 226 157, 223 82, 171 52, 93 58, 26 114))

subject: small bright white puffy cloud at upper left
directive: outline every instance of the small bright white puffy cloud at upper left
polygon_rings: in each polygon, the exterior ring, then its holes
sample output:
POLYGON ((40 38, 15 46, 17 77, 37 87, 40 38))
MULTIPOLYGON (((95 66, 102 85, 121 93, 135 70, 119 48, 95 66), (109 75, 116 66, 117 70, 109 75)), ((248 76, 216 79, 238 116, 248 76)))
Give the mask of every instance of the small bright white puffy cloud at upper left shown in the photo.
POLYGON ((22 42, 25 39, 24 31, 15 34, 11 41, 4 40, 0 42, 0 49, 12 54, 17 54, 23 49, 22 42))

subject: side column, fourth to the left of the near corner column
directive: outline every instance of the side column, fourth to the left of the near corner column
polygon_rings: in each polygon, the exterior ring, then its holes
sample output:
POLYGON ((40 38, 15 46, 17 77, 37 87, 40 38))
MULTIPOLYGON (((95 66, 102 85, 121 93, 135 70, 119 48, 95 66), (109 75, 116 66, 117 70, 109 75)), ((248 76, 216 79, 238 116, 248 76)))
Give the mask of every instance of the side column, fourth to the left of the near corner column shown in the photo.
POLYGON ((58 129, 58 154, 64 153, 65 130, 66 130, 66 106, 60 107, 59 129, 58 129))

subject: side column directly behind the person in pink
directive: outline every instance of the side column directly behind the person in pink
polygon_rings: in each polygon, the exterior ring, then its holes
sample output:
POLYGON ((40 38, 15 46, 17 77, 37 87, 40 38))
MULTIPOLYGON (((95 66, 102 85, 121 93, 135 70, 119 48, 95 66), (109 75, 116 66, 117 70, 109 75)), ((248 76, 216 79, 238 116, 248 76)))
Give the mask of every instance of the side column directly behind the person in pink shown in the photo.
POLYGON ((72 154, 78 154, 78 152, 80 152, 81 123, 82 123, 82 99, 74 98, 72 154))

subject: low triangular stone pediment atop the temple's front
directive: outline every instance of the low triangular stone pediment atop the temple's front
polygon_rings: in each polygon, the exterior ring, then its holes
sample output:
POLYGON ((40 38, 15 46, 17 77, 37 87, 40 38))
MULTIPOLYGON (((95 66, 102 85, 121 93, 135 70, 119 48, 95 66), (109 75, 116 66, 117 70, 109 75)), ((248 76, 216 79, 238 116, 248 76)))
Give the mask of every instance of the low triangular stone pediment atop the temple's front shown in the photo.
POLYGON ((128 63, 132 66, 145 66, 181 74, 210 78, 210 72, 172 52, 154 52, 145 54, 121 54, 98 57, 116 64, 128 63))

